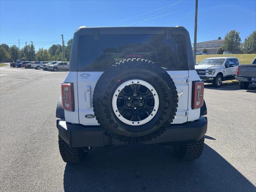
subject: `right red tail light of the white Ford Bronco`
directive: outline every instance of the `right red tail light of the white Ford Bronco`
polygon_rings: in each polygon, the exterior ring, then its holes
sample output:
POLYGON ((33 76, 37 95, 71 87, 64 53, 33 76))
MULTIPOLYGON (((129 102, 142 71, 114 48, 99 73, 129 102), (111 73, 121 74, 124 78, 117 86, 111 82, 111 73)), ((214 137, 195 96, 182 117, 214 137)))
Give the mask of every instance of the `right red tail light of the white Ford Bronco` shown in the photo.
POLYGON ((198 109, 204 104, 204 83, 202 81, 194 81, 192 88, 192 109, 198 109))

